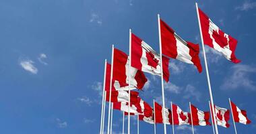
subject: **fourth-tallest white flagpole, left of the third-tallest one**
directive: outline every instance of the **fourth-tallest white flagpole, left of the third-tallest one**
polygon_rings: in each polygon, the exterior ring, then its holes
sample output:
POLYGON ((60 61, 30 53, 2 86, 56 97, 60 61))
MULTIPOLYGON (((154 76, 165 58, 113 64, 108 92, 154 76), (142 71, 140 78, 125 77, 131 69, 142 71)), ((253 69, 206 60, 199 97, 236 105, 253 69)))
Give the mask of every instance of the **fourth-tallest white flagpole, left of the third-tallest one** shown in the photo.
POLYGON ((109 102, 108 102, 108 133, 110 129, 110 109, 111 109, 111 91, 112 91, 112 78, 113 78, 113 63, 114 63, 114 45, 112 45, 112 57, 111 57, 111 72, 110 72, 110 86, 109 86, 109 102))

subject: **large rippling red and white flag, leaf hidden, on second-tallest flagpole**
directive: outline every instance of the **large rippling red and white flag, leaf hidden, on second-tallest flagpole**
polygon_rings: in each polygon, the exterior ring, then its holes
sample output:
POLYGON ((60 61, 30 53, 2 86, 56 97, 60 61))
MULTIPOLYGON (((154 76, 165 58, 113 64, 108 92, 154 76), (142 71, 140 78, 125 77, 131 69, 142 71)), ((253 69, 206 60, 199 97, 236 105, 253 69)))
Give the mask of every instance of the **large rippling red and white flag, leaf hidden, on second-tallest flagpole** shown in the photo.
POLYGON ((174 30, 160 19, 162 40, 162 54, 181 60, 187 64, 194 64, 199 72, 202 71, 199 58, 199 45, 186 42, 174 30))

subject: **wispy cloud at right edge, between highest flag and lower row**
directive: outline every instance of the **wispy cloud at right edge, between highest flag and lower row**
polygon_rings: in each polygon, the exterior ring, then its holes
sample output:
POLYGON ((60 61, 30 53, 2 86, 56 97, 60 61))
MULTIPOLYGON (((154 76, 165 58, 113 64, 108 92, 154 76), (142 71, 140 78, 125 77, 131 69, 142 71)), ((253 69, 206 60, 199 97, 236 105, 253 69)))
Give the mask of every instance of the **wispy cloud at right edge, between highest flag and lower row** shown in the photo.
POLYGON ((236 88, 256 90, 255 82, 250 78, 250 76, 255 76, 256 67, 236 64, 232 66, 231 70, 228 76, 224 78, 222 86, 220 86, 222 90, 234 90, 236 88))

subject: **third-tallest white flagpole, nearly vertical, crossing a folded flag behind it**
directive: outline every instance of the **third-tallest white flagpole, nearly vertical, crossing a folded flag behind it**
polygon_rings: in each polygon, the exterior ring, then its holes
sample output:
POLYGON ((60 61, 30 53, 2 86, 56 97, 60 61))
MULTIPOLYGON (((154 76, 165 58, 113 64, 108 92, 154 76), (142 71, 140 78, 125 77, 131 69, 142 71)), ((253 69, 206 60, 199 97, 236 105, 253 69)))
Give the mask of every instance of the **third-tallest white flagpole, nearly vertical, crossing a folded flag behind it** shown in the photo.
POLYGON ((130 134, 130 105, 131 105, 131 29, 129 29, 129 107, 128 107, 128 134, 130 134))

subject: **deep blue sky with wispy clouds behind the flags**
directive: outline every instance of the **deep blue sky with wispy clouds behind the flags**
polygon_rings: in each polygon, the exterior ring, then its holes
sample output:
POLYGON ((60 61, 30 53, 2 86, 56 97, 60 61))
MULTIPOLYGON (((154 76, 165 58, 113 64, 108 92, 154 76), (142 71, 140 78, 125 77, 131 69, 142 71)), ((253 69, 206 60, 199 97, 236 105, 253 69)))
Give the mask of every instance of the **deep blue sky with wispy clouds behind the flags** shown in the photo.
MULTIPOLYGON (((238 40, 232 64, 207 50, 214 101, 229 109, 228 97, 246 109, 251 125, 236 123, 238 133, 256 131, 256 1, 197 1, 199 7, 223 31, 238 40)), ((195 1, 146 0, 1 0, 0 1, 0 133, 98 133, 104 59, 110 61, 111 44, 128 52, 129 28, 157 52, 157 13, 183 39, 199 42, 195 1)), ((203 58, 201 56, 201 64, 203 58)), ((209 94, 205 69, 170 60, 170 83, 165 84, 166 106, 170 101, 184 111, 189 101, 208 111, 209 94)), ((141 98, 150 105, 160 102, 160 77, 148 76, 141 98)), ((113 131, 121 132, 121 113, 114 111, 113 131)), ((132 118, 131 131, 136 122, 132 118)), ((219 128, 220 133, 234 133, 219 128)), ((127 124, 126 124, 127 125, 127 124)), ((106 127, 105 127, 106 128, 106 127)), ((211 133, 212 127, 195 127, 211 133)), ((140 122, 141 133, 153 126, 140 122)), ((158 133, 163 126, 157 125, 158 133)), ((171 133, 171 127, 167 127, 171 133)), ((191 133, 189 126, 177 133, 191 133)))

